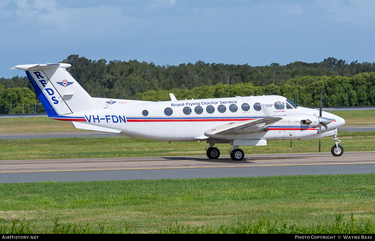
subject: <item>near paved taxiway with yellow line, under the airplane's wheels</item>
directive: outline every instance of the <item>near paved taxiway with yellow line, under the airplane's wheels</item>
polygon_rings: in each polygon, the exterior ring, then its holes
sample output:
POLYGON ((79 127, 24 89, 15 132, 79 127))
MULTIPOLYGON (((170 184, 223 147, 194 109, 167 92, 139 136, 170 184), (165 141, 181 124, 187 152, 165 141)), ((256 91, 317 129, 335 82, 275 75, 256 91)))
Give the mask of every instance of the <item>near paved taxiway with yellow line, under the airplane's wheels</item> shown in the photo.
POLYGON ((0 183, 363 174, 374 172, 375 152, 16 160, 0 161, 0 170, 0 183))

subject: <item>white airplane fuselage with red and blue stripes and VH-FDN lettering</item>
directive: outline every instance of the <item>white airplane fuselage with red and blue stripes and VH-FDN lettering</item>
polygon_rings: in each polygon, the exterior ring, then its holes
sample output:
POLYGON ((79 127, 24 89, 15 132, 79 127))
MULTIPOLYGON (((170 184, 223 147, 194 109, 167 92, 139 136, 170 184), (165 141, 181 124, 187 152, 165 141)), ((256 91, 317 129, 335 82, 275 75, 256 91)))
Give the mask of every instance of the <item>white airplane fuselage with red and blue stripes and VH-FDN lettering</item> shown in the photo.
MULTIPOLYGON (((102 102, 102 106, 105 106, 104 101, 108 101, 107 99, 94 99, 97 106, 99 105, 98 102, 102 102)), ((65 116, 80 117, 81 123, 119 130, 121 135, 165 141, 295 140, 317 135, 320 129, 318 127, 319 111, 305 107, 287 109, 286 100, 287 98, 278 95, 159 102, 117 100, 109 109, 98 108, 65 116), (275 103, 278 101, 284 102, 284 109, 275 108, 275 103), (249 104, 250 109, 248 111, 243 111, 241 108, 244 103, 249 104), (263 118, 263 110, 255 110, 255 103, 265 104, 273 116, 281 117, 282 120, 270 125, 268 131, 204 137, 205 131, 216 126, 263 118), (231 104, 237 106, 236 112, 229 110, 231 104), (220 105, 226 107, 225 112, 220 113, 218 111, 220 105), (195 113, 194 108, 197 106, 202 107, 203 112, 201 114, 195 113), (206 111, 207 106, 213 106, 214 112, 208 113, 206 111), (190 107, 191 113, 189 115, 184 114, 183 109, 185 107, 190 107), (165 115, 164 110, 166 108, 173 111, 172 115, 165 115), (144 110, 147 110, 147 116, 142 115, 144 110), (309 125, 302 124, 301 120, 305 119, 311 120, 312 123, 309 125)), ((107 107, 109 107, 108 104, 107 107)), ((332 122, 327 126, 322 126, 321 132, 333 130, 345 123, 344 119, 328 112, 323 112, 322 117, 330 119, 332 122)))

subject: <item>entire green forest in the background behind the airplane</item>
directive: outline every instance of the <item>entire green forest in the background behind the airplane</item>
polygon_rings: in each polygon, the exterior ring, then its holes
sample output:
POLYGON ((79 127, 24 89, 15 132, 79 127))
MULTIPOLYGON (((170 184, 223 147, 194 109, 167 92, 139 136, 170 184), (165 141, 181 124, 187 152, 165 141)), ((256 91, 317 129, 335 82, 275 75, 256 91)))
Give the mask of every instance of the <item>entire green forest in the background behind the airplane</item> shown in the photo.
MULTIPOLYGON (((180 100, 240 95, 282 95, 294 100, 296 94, 297 103, 317 107, 323 91, 323 106, 375 105, 375 62, 348 63, 330 57, 287 65, 197 61, 160 66, 137 60, 92 61, 78 55, 61 62, 72 65, 68 71, 92 97, 164 101, 174 93, 180 100)), ((34 113, 37 101, 26 76, 0 79, 0 114, 10 113, 10 103, 15 107, 12 113, 34 113)))

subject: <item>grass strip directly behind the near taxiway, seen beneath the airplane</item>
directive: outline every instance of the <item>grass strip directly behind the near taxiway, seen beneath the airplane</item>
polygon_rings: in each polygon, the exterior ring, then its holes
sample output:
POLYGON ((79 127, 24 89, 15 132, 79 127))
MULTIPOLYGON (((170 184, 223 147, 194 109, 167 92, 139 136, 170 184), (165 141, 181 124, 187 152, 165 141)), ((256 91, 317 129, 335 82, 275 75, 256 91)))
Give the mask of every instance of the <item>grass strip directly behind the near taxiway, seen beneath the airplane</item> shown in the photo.
MULTIPOLYGON (((345 152, 375 151, 375 131, 340 132, 345 152)), ((321 138, 321 152, 330 152, 332 137, 321 138)), ((114 158, 206 155, 206 143, 152 141, 127 137, 1 139, 0 160, 114 158)), ((228 155, 229 144, 216 144, 228 155)), ((318 152, 319 139, 269 141, 267 146, 241 146, 245 154, 318 152)))

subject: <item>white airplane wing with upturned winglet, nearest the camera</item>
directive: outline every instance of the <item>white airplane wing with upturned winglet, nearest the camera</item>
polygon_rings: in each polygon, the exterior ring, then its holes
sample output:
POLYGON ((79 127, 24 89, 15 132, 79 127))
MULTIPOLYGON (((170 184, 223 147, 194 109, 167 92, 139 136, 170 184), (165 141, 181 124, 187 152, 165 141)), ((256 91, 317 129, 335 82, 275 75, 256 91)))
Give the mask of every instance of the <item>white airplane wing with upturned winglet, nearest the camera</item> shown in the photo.
POLYGON ((263 119, 254 119, 254 120, 244 120, 239 122, 233 122, 225 125, 216 126, 204 132, 204 135, 209 137, 215 134, 248 134, 258 131, 267 131, 267 127, 273 123, 278 122, 282 118, 275 117, 267 109, 265 104, 261 104, 263 110, 263 119))

